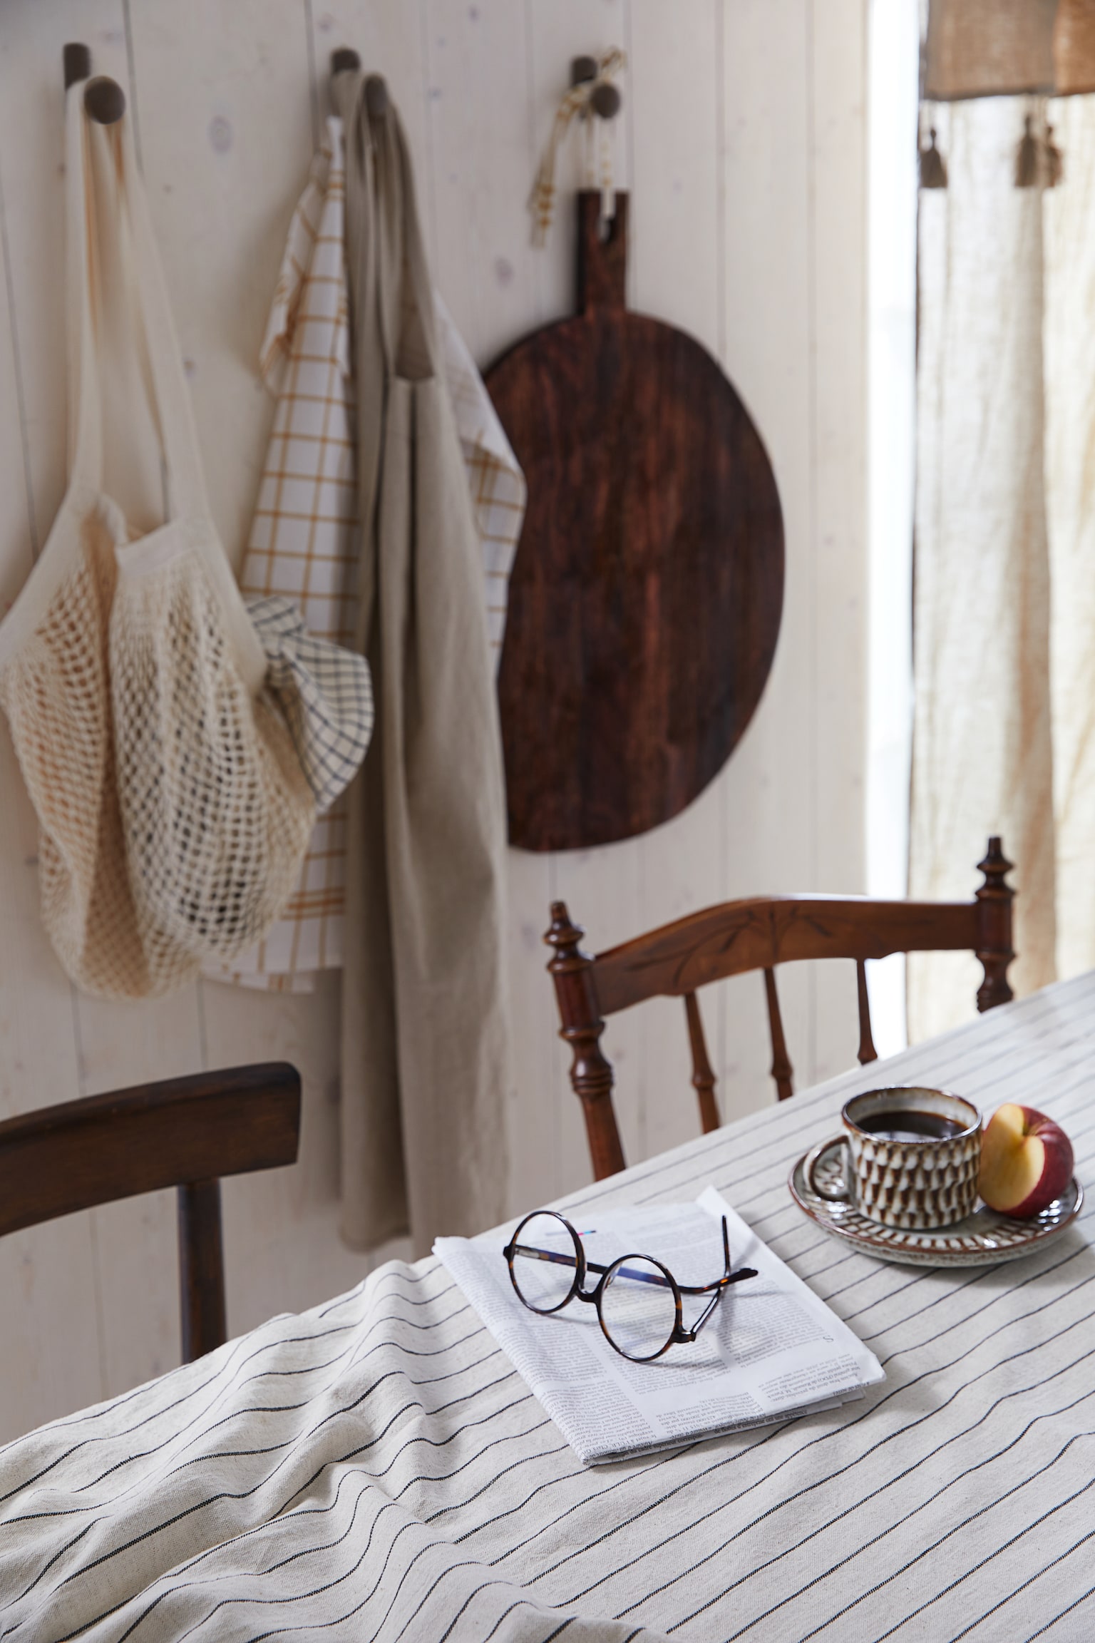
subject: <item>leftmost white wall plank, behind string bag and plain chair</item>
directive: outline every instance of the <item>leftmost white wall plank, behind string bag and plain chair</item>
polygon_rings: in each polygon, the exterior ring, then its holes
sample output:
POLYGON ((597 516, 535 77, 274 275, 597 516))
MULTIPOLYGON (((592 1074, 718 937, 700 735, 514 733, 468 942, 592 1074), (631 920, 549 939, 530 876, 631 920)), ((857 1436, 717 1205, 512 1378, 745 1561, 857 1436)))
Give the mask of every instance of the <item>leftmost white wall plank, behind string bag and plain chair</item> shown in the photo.
MULTIPOLYGON (((64 82, 82 39, 125 82, 121 0, 13 0, 0 8, 0 614, 49 534, 66 483, 64 82), (18 417, 18 421, 15 421, 18 417), (18 472, 16 472, 18 465, 18 472)), ((7 725, 0 731, 0 1111, 80 1091, 74 994, 38 912, 38 828, 7 725)), ((100 1398, 97 1226, 89 1214, 0 1244, 0 1434, 100 1398), (66 1346, 67 1341, 67 1346, 66 1346)))

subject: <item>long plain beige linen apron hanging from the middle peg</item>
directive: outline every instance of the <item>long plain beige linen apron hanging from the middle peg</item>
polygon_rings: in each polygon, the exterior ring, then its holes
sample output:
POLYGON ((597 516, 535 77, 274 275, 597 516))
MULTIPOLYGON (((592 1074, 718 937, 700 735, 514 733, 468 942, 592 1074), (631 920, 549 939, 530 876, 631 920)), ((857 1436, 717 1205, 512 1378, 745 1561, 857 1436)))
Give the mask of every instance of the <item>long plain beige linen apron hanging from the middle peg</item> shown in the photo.
POLYGON ((361 608, 376 729, 351 789, 343 1236, 478 1232, 506 1209, 506 802, 481 545, 394 107, 335 82, 358 375, 361 608))

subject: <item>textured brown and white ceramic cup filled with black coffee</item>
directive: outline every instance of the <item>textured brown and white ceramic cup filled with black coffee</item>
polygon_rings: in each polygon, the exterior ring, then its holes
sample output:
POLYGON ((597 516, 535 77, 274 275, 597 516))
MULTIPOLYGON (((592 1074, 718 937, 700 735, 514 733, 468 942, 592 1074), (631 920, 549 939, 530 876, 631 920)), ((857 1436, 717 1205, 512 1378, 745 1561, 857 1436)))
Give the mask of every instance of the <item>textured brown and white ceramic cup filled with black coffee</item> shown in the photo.
POLYGON ((905 1232, 964 1221, 977 1203, 982 1117, 942 1089, 868 1089, 841 1112, 844 1130, 814 1147, 806 1185, 831 1203, 905 1232), (818 1160, 841 1145, 841 1180, 816 1178, 818 1160))

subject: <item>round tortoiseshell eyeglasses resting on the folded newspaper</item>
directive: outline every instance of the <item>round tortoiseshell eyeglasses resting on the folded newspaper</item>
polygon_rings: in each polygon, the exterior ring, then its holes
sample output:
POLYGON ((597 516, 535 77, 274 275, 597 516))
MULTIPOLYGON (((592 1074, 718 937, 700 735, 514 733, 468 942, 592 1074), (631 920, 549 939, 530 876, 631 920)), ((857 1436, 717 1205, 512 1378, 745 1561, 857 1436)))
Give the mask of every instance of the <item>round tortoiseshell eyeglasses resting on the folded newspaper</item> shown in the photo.
POLYGON ((588 1260, 581 1236, 553 1209, 534 1209, 502 1250, 517 1298, 534 1313, 558 1313, 568 1301, 598 1309, 604 1339, 621 1357, 648 1364, 678 1341, 694 1341, 731 1283, 755 1278, 752 1267, 731 1272, 731 1239, 722 1216, 724 1272, 714 1283, 678 1283, 653 1255, 621 1255, 611 1267, 588 1260), (599 1273, 593 1290, 586 1275, 599 1273), (681 1316, 683 1295, 711 1300, 691 1328, 681 1316))

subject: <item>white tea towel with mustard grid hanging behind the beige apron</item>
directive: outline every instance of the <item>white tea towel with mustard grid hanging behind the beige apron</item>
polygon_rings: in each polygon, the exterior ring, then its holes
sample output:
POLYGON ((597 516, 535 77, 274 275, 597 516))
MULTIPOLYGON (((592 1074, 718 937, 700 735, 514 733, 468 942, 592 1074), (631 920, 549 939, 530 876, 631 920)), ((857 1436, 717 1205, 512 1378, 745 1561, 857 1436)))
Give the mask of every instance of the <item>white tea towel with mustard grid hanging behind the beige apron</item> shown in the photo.
MULTIPOLYGON (((300 606, 310 634, 340 646, 353 644, 360 555, 348 312, 345 154, 341 120, 332 117, 289 227, 259 358, 277 409, 240 587, 253 616, 256 598, 284 595, 300 606)), ((440 297, 437 322, 483 544, 488 633, 497 672, 525 480, 440 297)), ((320 812, 284 915, 231 966, 210 966, 207 974, 217 981, 309 992, 317 971, 341 968, 346 800, 328 810, 320 802, 320 812)))

